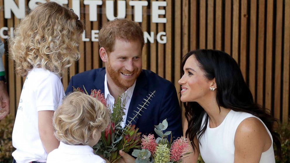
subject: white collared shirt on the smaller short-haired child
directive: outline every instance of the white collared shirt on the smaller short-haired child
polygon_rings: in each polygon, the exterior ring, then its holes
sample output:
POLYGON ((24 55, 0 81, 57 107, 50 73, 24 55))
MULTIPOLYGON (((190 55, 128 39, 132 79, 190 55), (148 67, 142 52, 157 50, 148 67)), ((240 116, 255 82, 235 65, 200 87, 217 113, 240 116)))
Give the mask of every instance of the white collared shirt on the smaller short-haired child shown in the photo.
POLYGON ((89 145, 68 145, 60 142, 59 147, 47 156, 46 163, 106 163, 100 156, 94 154, 89 145))

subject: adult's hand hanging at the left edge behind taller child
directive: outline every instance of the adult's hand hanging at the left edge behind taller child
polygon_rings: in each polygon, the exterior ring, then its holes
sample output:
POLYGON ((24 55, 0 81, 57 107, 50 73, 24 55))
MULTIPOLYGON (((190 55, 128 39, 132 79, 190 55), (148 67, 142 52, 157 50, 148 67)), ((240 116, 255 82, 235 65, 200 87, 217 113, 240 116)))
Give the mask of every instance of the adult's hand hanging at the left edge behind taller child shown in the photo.
POLYGON ((9 96, 4 81, 0 81, 0 120, 4 119, 9 112, 9 96))

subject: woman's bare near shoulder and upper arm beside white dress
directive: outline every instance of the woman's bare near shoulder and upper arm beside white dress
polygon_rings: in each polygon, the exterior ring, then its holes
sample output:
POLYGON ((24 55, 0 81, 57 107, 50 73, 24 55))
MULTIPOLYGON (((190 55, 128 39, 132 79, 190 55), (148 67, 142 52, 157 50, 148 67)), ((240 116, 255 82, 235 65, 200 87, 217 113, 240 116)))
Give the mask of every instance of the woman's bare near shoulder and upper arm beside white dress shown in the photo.
POLYGON ((238 126, 234 138, 234 163, 260 162, 262 152, 268 150, 272 140, 262 122, 247 118, 238 126))

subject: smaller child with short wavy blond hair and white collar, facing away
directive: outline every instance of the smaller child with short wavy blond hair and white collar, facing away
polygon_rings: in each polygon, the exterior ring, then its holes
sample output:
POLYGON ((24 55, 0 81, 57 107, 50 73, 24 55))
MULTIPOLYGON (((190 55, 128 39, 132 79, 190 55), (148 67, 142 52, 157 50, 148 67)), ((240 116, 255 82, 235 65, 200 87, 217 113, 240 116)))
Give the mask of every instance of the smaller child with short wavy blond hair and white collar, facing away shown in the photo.
POLYGON ((92 147, 109 121, 109 111, 99 100, 81 92, 70 93, 53 116, 60 145, 49 153, 47 163, 106 163, 92 147))

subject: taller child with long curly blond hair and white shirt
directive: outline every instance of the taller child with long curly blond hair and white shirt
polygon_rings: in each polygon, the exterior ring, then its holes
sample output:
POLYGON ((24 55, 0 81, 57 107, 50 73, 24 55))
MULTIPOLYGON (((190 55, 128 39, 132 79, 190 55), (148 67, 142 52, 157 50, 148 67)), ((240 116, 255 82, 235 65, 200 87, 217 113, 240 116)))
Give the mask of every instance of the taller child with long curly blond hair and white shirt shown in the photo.
POLYGON ((65 96, 61 77, 80 58, 82 21, 55 2, 38 5, 9 38, 15 72, 25 77, 12 134, 13 163, 46 162, 59 146, 52 116, 65 96))

